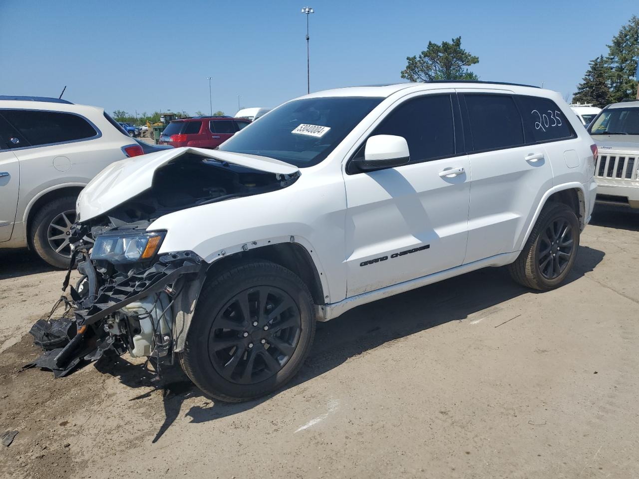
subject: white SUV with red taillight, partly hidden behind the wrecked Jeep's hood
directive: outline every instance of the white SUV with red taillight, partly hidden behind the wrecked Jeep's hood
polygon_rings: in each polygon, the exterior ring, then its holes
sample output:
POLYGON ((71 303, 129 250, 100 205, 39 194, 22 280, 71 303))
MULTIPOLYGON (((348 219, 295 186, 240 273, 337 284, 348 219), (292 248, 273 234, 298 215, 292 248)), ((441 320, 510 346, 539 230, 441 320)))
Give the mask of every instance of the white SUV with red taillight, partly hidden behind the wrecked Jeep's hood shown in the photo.
POLYGON ((0 248, 33 248, 66 268, 75 200, 109 163, 142 155, 102 108, 0 96, 0 248))

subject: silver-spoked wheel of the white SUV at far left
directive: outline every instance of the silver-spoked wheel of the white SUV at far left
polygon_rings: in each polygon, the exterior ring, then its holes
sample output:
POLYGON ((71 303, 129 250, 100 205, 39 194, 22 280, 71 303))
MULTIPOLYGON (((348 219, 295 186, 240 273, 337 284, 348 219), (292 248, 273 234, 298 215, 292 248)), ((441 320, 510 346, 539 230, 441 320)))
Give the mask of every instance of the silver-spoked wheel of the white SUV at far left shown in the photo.
POLYGON ((51 266, 63 270, 71 262, 71 248, 66 237, 75 222, 75 199, 75 196, 63 196, 45 204, 31 223, 31 244, 36 254, 51 266))

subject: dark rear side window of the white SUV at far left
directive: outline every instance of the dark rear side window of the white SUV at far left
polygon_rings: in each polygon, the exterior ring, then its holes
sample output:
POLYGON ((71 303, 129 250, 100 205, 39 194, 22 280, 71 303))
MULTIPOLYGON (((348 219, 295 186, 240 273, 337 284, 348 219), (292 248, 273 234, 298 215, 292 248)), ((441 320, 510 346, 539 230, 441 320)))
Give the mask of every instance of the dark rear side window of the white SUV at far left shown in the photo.
POLYGON ((93 138, 95 128, 81 116, 39 110, 3 110, 1 114, 31 146, 93 138))

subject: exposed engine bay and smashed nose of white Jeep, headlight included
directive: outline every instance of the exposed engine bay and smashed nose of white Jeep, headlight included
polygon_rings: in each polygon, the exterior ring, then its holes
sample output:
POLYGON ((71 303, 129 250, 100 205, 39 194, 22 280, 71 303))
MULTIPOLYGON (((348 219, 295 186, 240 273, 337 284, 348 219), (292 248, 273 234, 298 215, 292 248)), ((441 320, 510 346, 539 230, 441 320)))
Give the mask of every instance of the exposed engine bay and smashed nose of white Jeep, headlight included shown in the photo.
POLYGON ((65 376, 105 353, 173 363, 185 342, 208 264, 190 251, 158 254, 166 231, 147 232, 157 218, 211 202, 272 192, 296 176, 263 172, 187 154, 155 171, 150 189, 73 225, 72 264, 81 278, 50 315, 31 328, 45 353, 27 367, 65 376), (63 314, 55 311, 64 305, 63 314))

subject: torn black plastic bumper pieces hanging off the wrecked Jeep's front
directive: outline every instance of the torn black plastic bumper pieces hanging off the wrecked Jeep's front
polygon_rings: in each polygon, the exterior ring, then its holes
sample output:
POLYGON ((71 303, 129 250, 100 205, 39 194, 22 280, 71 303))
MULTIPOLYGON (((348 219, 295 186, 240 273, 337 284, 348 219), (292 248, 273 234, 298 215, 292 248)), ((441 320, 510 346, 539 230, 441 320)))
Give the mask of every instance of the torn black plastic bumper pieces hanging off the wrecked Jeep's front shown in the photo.
MULTIPOLYGON (((45 353, 25 368, 48 369, 55 377, 61 377, 72 372, 82 360, 98 360, 107 351, 122 354, 130 349, 130 340, 123 331, 114 328, 120 310, 141 298, 160 294, 170 298, 169 307, 178 307, 182 302, 179 298, 182 289, 192 290, 185 288, 185 284, 203 282, 204 265, 206 263, 193 252, 164 254, 149 268, 132 270, 116 280, 98 285, 99 273, 85 256, 78 265, 85 279, 82 293, 72 288, 73 300, 61 300, 67 305, 65 314, 57 319, 40 319, 33 325, 29 332, 36 346, 42 347, 45 353), (72 318, 69 317, 71 312, 72 318)), ((158 344, 162 343, 162 339, 156 339, 158 344)), ((165 339, 167 344, 161 344, 164 355, 172 352, 178 338, 170 333, 165 339)))

